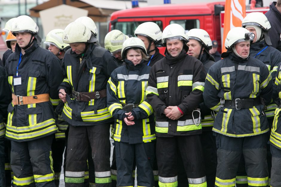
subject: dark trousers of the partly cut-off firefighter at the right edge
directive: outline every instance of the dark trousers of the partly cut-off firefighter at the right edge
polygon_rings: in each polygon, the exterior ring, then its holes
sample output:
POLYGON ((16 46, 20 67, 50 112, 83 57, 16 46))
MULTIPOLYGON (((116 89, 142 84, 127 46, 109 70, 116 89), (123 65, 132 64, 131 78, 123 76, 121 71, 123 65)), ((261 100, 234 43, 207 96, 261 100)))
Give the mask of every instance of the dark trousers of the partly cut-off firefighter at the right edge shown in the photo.
POLYGON ((270 186, 281 186, 281 149, 270 145, 272 154, 271 181, 270 186))

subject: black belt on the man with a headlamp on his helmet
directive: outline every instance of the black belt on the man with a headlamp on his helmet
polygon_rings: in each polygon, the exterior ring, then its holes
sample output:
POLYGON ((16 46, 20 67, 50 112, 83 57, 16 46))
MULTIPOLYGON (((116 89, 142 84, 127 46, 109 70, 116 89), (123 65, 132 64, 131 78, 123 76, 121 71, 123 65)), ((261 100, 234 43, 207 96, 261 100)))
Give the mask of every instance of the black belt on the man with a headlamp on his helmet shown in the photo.
POLYGON ((251 109, 253 106, 261 104, 260 98, 224 100, 223 106, 234 109, 251 109))

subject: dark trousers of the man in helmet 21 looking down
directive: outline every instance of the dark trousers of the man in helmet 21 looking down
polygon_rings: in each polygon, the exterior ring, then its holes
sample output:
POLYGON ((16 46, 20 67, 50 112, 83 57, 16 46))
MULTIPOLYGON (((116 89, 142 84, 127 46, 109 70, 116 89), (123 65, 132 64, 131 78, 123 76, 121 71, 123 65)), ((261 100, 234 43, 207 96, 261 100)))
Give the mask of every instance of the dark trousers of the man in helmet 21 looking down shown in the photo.
POLYGON ((109 124, 69 126, 65 186, 83 187, 88 143, 92 149, 96 187, 111 187, 109 124))

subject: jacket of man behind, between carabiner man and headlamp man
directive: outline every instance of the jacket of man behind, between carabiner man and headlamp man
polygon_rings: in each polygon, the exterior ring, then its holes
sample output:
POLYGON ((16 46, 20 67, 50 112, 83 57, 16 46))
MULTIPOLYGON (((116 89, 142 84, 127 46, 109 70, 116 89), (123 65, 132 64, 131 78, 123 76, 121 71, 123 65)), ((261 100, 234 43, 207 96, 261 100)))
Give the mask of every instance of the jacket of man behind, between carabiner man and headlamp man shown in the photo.
MULTIPOLYGON (((200 61, 203 63, 205 71, 208 72, 209 68, 215 64, 215 59, 212 55, 207 52, 203 52, 200 57, 200 61)), ((211 109, 209 109, 204 102, 200 103, 199 105, 200 112, 201 112, 201 123, 202 123, 202 130, 203 131, 212 131, 214 126, 214 116, 211 115, 211 109)), ((215 115, 213 113, 213 115, 215 115)))

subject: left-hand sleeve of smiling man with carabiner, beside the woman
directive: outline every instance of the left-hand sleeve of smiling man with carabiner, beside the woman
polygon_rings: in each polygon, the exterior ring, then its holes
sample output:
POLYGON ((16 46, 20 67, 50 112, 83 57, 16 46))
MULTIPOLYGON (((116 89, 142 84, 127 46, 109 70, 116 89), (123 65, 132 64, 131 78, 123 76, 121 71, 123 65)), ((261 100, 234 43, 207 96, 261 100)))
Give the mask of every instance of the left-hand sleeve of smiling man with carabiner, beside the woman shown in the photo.
POLYGON ((164 113, 164 109, 166 108, 166 104, 161 101, 159 98, 158 90, 157 90, 157 79, 155 66, 152 66, 151 71, 149 73, 148 85, 146 88, 146 98, 148 103, 152 106, 152 108, 161 115, 164 113))

